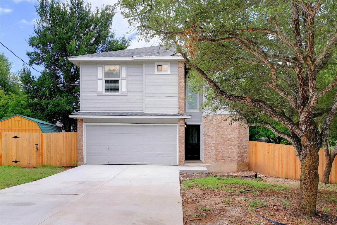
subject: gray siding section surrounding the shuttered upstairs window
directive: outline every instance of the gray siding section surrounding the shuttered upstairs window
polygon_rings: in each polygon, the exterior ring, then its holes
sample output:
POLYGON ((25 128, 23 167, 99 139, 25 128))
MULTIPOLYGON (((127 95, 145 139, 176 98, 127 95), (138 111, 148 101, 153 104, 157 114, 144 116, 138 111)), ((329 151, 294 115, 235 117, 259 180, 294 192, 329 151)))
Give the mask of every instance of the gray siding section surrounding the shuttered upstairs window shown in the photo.
POLYGON ((81 110, 143 111, 143 63, 81 62, 81 110), (97 65, 126 65, 127 95, 97 94, 97 65))

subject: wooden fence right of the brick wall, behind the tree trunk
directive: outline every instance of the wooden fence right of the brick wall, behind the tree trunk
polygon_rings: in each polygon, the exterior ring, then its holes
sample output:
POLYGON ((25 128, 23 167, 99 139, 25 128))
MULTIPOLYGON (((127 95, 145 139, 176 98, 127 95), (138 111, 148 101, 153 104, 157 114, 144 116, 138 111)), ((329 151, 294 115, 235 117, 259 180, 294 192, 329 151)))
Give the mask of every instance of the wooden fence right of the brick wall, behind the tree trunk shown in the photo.
MULTIPOLYGON (((323 180, 326 165, 324 150, 319 152, 319 180, 323 180)), ((268 176, 290 179, 301 178, 301 162, 292 145, 249 141, 248 170, 268 176)), ((337 162, 332 164, 329 182, 337 182, 337 162)))

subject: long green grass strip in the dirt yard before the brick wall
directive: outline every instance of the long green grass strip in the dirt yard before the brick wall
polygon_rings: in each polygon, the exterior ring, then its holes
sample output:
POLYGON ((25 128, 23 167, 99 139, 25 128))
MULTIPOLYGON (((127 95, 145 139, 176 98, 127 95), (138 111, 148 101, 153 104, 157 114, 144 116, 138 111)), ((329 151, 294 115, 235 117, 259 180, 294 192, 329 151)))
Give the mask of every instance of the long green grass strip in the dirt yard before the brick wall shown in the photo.
POLYGON ((214 188, 232 192, 235 192, 236 189, 241 189, 240 191, 247 191, 254 194, 256 194, 256 190, 258 191, 263 189, 269 189, 273 191, 280 191, 289 188, 288 185, 271 184, 231 176, 208 176, 203 178, 192 178, 185 180, 182 183, 182 187, 185 189, 189 189, 191 187, 199 187, 202 190, 214 188))

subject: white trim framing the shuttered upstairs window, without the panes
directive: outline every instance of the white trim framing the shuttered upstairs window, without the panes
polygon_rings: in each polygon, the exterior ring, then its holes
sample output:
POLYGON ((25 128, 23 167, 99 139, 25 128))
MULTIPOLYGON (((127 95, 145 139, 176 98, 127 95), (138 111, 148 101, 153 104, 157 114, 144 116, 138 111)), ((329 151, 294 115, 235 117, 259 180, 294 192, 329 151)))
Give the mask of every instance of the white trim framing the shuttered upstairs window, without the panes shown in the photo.
POLYGON ((127 95, 127 64, 100 64, 97 65, 97 96, 104 96, 104 95, 127 95), (105 66, 119 66, 119 92, 105 92, 105 80, 118 80, 118 79, 109 79, 104 78, 104 67, 105 66), (125 67, 125 78, 122 78, 122 67, 125 67), (102 67, 102 78, 98 77, 99 67, 102 67), (99 91, 98 87, 98 80, 102 80, 102 91, 99 91), (125 91, 122 91, 122 80, 125 80, 125 91))

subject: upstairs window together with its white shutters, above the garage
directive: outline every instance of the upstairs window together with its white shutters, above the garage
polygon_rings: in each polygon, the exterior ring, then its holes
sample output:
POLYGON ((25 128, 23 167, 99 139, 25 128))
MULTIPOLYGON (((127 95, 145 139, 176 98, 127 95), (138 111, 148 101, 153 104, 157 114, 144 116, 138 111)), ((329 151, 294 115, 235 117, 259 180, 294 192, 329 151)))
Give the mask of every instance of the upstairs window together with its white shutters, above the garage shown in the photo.
POLYGON ((126 94, 126 66, 99 65, 97 93, 126 94))

